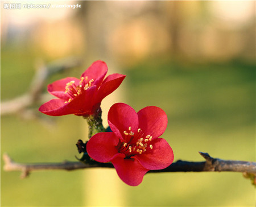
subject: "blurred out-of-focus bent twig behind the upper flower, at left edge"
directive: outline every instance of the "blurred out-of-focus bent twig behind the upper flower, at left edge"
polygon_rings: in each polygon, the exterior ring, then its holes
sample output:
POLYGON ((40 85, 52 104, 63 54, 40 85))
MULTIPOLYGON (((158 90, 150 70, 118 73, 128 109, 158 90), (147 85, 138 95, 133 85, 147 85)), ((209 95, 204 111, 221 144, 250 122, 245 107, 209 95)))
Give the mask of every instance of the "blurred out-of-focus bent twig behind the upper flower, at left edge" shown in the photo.
POLYGON ((1 103, 1 115, 22 114, 31 116, 28 107, 32 106, 36 101, 44 99, 46 96, 42 94, 44 84, 52 74, 67 71, 81 65, 81 61, 75 57, 53 61, 48 65, 40 64, 36 67, 36 73, 32 78, 30 89, 20 97, 1 103))

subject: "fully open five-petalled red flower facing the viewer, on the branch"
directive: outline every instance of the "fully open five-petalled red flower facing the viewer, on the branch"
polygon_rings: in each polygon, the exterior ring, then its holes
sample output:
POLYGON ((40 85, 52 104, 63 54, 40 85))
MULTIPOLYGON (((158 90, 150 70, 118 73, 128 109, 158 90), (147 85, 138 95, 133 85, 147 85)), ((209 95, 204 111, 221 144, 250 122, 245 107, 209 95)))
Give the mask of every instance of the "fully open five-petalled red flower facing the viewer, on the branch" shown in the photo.
POLYGON ((136 113, 125 103, 115 103, 109 110, 108 123, 113 132, 92 136, 87 152, 97 162, 112 162, 126 184, 139 185, 146 172, 173 162, 172 148, 158 138, 167 127, 167 115, 159 107, 144 107, 136 113))

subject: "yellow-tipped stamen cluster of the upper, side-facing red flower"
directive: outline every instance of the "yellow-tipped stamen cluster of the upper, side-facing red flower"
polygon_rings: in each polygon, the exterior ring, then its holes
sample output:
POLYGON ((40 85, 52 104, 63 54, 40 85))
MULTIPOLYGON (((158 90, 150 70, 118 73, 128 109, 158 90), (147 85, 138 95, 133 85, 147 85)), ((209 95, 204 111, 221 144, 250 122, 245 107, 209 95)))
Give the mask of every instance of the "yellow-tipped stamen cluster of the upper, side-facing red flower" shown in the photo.
POLYGON ((86 76, 86 77, 80 78, 79 85, 76 85, 75 81, 68 82, 66 84, 65 93, 67 93, 70 98, 68 101, 65 101, 65 103, 70 103, 74 98, 79 96, 82 92, 90 88, 90 86, 92 86, 93 81, 94 81, 93 79, 88 81, 88 77, 86 76))

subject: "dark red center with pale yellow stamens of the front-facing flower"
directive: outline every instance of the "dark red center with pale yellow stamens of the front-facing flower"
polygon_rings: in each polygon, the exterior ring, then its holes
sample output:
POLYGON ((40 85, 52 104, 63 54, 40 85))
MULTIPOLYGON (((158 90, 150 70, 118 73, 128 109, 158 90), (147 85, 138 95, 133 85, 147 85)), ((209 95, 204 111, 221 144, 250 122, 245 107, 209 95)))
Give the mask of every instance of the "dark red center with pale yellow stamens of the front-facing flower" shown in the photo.
POLYGON ((126 158, 152 150, 152 136, 150 134, 144 136, 141 129, 134 133, 129 127, 127 131, 123 131, 123 134, 125 134, 125 142, 118 144, 118 151, 125 154, 126 158))

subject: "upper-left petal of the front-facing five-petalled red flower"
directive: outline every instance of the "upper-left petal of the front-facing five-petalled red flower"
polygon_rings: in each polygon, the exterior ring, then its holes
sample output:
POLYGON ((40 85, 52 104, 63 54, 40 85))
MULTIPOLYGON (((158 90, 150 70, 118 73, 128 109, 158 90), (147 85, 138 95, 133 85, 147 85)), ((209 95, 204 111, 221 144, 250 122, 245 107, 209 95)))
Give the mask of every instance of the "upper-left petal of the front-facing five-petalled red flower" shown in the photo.
POLYGON ((123 131, 127 131, 129 127, 131 127, 131 131, 137 130, 139 125, 136 111, 125 103, 115 103, 110 107, 108 123, 113 133, 122 141, 124 141, 123 131))

